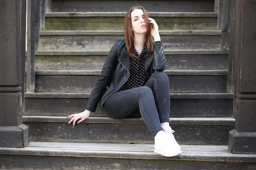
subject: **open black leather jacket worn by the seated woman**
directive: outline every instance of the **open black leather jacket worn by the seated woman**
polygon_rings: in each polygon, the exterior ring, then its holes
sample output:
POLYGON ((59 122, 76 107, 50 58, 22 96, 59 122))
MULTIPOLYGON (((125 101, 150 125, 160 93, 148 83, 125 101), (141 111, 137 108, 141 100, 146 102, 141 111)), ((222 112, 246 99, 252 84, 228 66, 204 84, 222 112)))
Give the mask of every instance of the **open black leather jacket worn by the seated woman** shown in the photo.
MULTIPOLYGON (((161 42, 154 44, 152 55, 145 59, 146 81, 155 71, 166 69, 166 57, 161 42)), ((100 106, 108 96, 115 93, 130 75, 130 56, 126 53, 124 40, 117 41, 108 53, 101 75, 87 102, 86 109, 95 112, 98 103, 100 106)))

